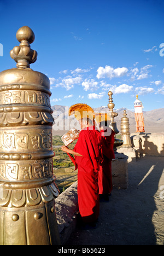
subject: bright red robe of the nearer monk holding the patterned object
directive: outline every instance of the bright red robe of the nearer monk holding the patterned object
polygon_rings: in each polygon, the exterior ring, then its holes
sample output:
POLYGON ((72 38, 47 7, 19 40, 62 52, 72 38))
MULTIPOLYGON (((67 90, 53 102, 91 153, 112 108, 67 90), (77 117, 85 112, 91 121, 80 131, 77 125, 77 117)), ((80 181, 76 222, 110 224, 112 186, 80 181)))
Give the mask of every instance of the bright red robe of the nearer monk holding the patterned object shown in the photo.
POLYGON ((78 168, 79 212, 84 222, 94 222, 99 216, 98 171, 102 161, 101 133, 95 126, 81 130, 74 151, 78 168))

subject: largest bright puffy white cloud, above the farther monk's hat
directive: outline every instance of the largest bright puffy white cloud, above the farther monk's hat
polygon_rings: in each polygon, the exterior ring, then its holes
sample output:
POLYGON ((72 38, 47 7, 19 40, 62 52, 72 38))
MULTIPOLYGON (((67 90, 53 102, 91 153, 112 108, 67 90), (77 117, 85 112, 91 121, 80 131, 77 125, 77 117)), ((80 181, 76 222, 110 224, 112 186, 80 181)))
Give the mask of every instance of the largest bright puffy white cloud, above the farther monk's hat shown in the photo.
POLYGON ((114 77, 122 77, 123 75, 125 75, 127 73, 128 69, 126 67, 118 67, 118 68, 113 68, 110 67, 108 65, 106 65, 106 67, 99 67, 97 69, 97 78, 105 78, 108 77, 110 79, 114 78, 114 77))

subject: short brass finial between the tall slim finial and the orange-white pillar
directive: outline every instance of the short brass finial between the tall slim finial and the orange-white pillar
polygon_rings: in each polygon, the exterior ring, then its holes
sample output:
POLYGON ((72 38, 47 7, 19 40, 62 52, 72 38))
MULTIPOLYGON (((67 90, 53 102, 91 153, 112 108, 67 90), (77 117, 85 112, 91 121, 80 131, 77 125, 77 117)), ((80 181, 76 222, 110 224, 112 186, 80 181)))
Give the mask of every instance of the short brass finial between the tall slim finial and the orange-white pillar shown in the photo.
POLYGON ((124 141, 122 148, 131 148, 132 143, 130 138, 130 124, 125 109, 123 115, 124 117, 121 118, 121 139, 124 141))

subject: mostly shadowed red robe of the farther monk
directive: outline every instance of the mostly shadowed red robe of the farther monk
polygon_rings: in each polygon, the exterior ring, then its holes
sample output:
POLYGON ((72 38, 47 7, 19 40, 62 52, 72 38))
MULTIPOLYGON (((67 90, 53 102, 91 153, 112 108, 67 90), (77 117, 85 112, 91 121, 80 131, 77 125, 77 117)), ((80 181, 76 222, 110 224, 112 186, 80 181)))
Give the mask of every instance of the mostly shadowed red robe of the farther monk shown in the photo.
POLYGON ((112 130, 112 133, 110 134, 110 136, 106 136, 106 135, 107 135, 107 132, 104 132, 103 130, 101 130, 103 162, 98 172, 99 194, 110 194, 113 187, 112 159, 115 159, 114 150, 113 150, 115 132, 112 130))

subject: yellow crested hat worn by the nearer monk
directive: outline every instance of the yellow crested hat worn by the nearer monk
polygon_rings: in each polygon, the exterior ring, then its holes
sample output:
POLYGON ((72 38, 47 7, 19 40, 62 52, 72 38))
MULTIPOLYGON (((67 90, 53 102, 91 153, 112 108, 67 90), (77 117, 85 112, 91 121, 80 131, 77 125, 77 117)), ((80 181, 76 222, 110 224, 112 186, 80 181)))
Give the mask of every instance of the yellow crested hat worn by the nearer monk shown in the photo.
POLYGON ((78 103, 69 108, 69 115, 74 114, 75 119, 80 120, 82 118, 94 118, 94 110, 87 104, 78 103))

